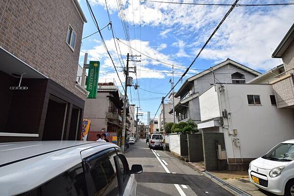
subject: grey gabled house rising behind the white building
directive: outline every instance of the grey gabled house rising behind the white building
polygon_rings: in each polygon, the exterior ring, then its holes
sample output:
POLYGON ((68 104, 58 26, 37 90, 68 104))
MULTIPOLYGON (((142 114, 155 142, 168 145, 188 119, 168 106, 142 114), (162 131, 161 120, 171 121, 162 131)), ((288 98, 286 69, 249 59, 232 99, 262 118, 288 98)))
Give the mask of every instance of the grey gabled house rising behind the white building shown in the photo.
POLYGON ((227 59, 211 69, 188 78, 175 94, 179 98, 175 105, 177 123, 189 119, 200 122, 199 95, 210 88, 214 82, 244 84, 261 75, 240 63, 227 59))

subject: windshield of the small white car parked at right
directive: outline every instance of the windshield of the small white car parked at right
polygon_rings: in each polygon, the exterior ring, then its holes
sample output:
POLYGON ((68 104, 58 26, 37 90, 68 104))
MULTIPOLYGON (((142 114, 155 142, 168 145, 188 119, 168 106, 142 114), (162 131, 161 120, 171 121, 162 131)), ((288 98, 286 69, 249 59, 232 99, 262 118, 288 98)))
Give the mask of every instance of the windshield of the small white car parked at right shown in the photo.
POLYGON ((293 161, 294 160, 294 144, 281 143, 270 150, 262 158, 273 161, 293 161))

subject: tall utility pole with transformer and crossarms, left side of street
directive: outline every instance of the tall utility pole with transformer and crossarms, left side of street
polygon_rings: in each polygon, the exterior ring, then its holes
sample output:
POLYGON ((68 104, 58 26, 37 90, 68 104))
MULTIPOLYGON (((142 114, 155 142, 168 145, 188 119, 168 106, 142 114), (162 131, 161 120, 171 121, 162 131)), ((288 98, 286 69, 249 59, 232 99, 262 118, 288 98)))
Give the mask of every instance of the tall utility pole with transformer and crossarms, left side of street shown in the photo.
MULTIPOLYGON (((123 98, 123 130, 122 130, 122 142, 121 142, 121 149, 124 152, 124 140, 125 140, 125 121, 126 121, 126 106, 127 106, 127 87, 132 86, 132 78, 129 77, 129 72, 136 73, 136 67, 129 67, 129 61, 137 61, 137 60, 129 60, 129 57, 134 57, 135 55, 129 55, 127 53, 126 58, 126 67, 124 69, 125 74, 125 84, 124 84, 124 98, 123 98), (129 71, 129 69, 133 69, 134 71, 129 71)), ((141 55, 140 55, 141 56, 141 55)), ((140 62, 140 61, 137 61, 140 62)))

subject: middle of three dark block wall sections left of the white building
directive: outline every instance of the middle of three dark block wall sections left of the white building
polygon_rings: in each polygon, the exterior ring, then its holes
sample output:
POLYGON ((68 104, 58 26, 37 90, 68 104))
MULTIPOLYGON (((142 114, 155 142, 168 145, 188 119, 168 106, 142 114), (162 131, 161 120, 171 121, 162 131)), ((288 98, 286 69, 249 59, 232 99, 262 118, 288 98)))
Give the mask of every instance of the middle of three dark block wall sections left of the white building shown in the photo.
POLYGON ((187 134, 188 156, 190 162, 203 161, 203 145, 201 134, 187 134))

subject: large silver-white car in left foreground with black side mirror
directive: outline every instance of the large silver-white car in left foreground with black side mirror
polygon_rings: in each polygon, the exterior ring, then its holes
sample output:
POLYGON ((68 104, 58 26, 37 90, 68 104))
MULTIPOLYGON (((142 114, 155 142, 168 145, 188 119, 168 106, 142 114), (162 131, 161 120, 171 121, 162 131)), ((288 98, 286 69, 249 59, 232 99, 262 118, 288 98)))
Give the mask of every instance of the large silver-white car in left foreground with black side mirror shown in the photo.
POLYGON ((142 172, 111 143, 1 143, 0 157, 0 196, 135 196, 142 172))

